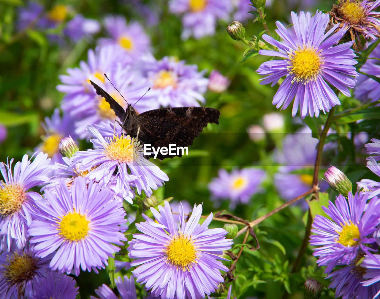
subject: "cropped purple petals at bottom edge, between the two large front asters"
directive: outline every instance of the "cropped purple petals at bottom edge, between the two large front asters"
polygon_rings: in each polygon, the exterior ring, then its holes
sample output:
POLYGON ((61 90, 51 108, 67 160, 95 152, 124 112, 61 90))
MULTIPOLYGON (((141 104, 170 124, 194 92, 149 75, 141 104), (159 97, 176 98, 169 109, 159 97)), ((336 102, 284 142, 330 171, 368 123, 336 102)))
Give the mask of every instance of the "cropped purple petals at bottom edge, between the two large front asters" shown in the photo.
MULTIPOLYGON (((117 291, 119 291, 120 299, 136 299, 136 286, 135 278, 131 275, 128 278, 127 275, 124 275, 123 279, 119 276, 115 279, 115 285, 117 291), (123 281, 124 280, 124 281, 123 281)), ((100 299, 118 299, 114 292, 105 284, 95 290, 95 293, 100 297, 100 299)), ((97 297, 90 296, 90 299, 98 299, 97 297)))

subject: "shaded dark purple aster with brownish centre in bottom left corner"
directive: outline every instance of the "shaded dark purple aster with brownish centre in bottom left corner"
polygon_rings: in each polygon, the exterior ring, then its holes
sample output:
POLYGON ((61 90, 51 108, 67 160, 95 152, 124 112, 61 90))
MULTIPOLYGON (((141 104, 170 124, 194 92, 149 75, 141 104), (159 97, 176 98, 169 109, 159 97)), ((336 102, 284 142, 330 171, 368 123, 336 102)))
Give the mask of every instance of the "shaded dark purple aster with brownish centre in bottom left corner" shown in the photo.
POLYGON ((42 280, 51 275, 48 270, 50 259, 51 256, 39 258, 32 248, 9 252, 4 263, 0 265, 2 298, 30 298, 36 286, 41 285, 42 280))

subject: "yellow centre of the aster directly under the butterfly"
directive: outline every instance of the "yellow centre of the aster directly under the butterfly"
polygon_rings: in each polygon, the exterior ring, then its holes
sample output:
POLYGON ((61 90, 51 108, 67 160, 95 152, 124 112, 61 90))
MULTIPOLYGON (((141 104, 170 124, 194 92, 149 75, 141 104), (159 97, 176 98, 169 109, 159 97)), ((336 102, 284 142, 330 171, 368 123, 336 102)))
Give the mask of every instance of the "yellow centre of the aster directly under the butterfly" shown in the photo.
POLYGON ((112 139, 106 140, 108 144, 104 146, 104 154, 106 157, 119 162, 132 162, 138 159, 138 150, 140 143, 129 135, 114 136, 112 139))

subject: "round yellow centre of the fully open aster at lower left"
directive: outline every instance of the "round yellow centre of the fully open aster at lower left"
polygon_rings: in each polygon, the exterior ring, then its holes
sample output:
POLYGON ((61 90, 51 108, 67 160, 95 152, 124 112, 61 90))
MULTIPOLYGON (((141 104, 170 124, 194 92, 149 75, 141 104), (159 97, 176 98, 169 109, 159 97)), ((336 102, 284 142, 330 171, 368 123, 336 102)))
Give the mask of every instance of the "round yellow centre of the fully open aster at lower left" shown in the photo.
POLYGON ((67 240, 78 242, 86 237, 89 231, 89 222, 86 216, 72 212, 62 217, 59 222, 59 234, 67 240))

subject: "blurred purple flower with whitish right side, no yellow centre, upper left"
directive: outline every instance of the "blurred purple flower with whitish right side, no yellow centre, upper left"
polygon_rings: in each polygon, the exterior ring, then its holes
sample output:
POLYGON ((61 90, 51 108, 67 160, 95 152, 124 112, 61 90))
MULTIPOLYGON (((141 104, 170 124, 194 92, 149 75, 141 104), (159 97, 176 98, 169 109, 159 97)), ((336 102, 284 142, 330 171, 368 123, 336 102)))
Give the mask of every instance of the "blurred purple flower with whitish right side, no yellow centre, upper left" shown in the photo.
POLYGON ((100 24, 97 20, 86 19, 81 14, 76 14, 67 22, 63 33, 70 38, 71 41, 77 42, 82 37, 89 38, 100 30, 100 24))

